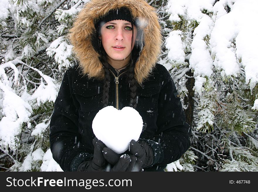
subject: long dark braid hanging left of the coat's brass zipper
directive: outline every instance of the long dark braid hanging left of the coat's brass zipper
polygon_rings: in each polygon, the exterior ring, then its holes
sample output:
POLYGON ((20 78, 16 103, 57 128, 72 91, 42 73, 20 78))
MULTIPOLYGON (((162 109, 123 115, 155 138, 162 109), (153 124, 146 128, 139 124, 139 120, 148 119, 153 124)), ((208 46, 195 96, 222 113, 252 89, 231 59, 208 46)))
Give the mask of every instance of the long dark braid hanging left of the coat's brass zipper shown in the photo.
POLYGON ((101 63, 104 65, 104 72, 105 72, 105 78, 104 78, 104 86, 103 86, 103 108, 108 106, 108 98, 109 98, 109 86, 110 86, 110 74, 109 74, 109 66, 108 62, 106 60, 106 56, 101 57, 101 63))

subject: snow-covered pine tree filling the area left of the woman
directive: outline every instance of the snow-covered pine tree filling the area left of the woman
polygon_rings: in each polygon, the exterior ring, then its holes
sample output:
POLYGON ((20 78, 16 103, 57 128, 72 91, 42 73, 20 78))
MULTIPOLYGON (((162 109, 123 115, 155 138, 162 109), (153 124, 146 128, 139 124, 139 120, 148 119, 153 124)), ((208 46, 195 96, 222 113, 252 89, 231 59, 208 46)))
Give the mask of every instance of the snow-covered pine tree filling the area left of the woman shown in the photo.
POLYGON ((2 171, 40 171, 43 156, 51 160, 45 152, 53 103, 63 72, 75 62, 65 35, 85 2, 1 1, 2 171))

